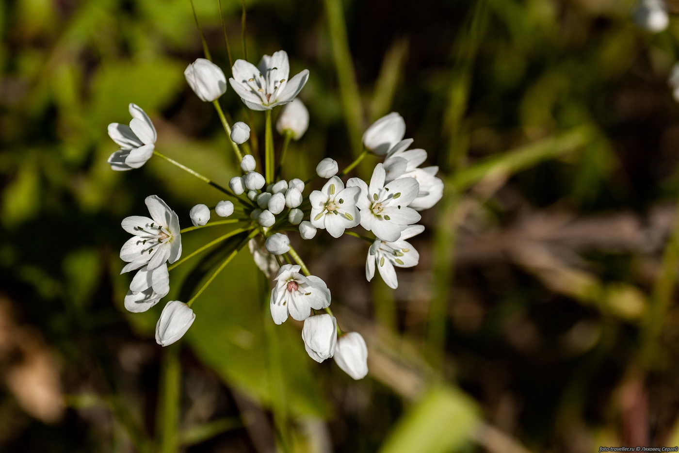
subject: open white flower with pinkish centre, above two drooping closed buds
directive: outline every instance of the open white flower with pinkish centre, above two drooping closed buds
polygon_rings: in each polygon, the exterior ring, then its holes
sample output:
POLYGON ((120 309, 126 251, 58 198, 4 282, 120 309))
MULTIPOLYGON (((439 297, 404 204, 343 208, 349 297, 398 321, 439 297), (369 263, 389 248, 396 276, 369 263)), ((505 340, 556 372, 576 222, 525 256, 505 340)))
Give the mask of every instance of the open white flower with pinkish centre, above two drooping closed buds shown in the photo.
POLYGON ((288 314, 297 321, 309 317, 311 309, 321 310, 330 305, 330 290, 317 276, 304 276, 300 266, 284 264, 278 270, 271 290, 271 316, 274 323, 282 324, 288 314))

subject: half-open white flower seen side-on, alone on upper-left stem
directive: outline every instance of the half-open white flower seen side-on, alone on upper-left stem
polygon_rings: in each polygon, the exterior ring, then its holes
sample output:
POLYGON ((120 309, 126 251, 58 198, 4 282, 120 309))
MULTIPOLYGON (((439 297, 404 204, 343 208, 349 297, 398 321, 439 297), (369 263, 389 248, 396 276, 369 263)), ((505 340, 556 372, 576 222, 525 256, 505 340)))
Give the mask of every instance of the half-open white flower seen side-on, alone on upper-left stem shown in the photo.
POLYGON ((155 149, 155 128, 151 118, 136 104, 128 106, 132 121, 130 126, 120 123, 109 124, 109 137, 120 145, 120 149, 109 157, 111 169, 117 171, 139 168, 153 156, 155 149))

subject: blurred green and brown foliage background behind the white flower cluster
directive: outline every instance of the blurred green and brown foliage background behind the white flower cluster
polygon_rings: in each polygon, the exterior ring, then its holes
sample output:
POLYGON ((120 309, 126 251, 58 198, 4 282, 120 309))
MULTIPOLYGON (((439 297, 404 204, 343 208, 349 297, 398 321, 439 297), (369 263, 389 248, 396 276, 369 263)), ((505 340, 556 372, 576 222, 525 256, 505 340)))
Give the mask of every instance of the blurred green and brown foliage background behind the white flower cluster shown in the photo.
MULTIPOLYGON (((217 0, 194 1, 228 74, 217 0)), ((234 59, 241 6, 221 4, 234 59)), ((318 365, 299 323, 274 326, 268 283, 247 252, 194 306, 196 322, 173 349, 179 362, 155 344, 164 302, 144 314, 123 307, 131 277, 118 275, 120 221, 157 194, 186 226, 191 206, 221 198, 158 158, 111 171, 106 126, 128 122, 136 103, 160 152, 222 184, 237 173, 219 118, 183 78, 202 56, 189 0, 7 0, 0 450, 679 443, 679 108, 667 86, 679 21, 650 35, 623 0, 245 6, 249 60, 284 49, 291 73, 310 70, 299 96, 310 128, 291 145, 285 177, 304 179, 328 156, 342 168, 365 127, 398 111, 445 179, 413 239, 420 265, 399 270, 397 291, 365 281, 361 240, 291 235, 331 288, 340 325, 366 338, 371 374, 354 382, 332 361, 318 365), (179 366, 179 382, 160 380, 167 366, 179 366), (172 385, 177 401, 163 397, 172 385), (177 407, 175 439, 159 445, 177 407)), ((263 141, 263 115, 231 89, 221 103, 263 141)), ((185 253, 220 234, 186 234, 185 253)), ((173 271, 165 300, 195 287, 191 266, 208 261, 173 271)))

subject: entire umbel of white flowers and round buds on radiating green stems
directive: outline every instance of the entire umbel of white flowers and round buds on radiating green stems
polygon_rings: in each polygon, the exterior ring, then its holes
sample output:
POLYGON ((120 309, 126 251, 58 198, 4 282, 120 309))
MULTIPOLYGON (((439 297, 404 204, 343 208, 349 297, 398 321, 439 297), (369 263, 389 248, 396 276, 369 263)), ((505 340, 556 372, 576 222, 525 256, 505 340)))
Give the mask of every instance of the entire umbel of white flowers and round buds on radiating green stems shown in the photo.
MULTIPOLYGON (((234 254, 247 245, 257 267, 272 280, 273 322, 284 323, 289 316, 303 321, 301 338, 308 355, 318 362, 332 357, 344 372, 361 379, 368 372, 365 340, 360 333, 344 333, 340 329, 330 308, 331 289, 322 278, 309 272, 293 249, 289 232, 298 231, 303 240, 316 237, 318 230, 326 230, 333 238, 349 233, 367 240, 367 280, 375 276, 376 268, 389 287, 397 288, 396 268, 418 264, 418 251, 407 240, 424 231, 424 226, 418 225, 420 211, 441 199, 443 181, 436 176, 436 166, 422 167, 427 158, 424 149, 409 149, 413 140, 403 139, 405 122, 398 113, 389 113, 367 128, 363 135, 364 151, 346 170, 340 172, 335 160, 324 158, 312 177, 277 179, 288 143, 304 136, 310 120, 304 103, 296 98, 309 72, 305 69, 291 79, 289 72, 288 57, 283 51, 263 56, 256 67, 244 60, 234 63, 230 86, 247 107, 265 112, 268 130, 263 170, 257 171, 257 154, 243 154, 240 150, 240 145, 250 138, 249 126, 243 122, 232 126, 223 122, 241 170, 240 175, 228 181, 228 188, 158 153, 153 123, 136 105, 130 104, 130 126, 109 125, 111 139, 120 145, 109 158, 114 170, 139 168, 157 154, 230 198, 211 207, 196 204, 189 211, 193 226, 184 230, 180 230, 177 214, 155 195, 146 199, 150 217, 124 219, 122 227, 133 237, 120 251, 121 259, 128 262, 122 272, 137 270, 125 297, 125 307, 131 312, 142 312, 157 304, 170 291, 168 271, 213 245, 206 244, 177 262, 181 257, 181 234, 238 223, 240 228, 225 234, 225 238, 242 238, 236 252, 225 259, 191 300, 187 303, 173 300, 162 310, 155 330, 158 344, 167 346, 184 335, 196 318, 191 304, 234 254), (284 142, 278 162, 274 162, 270 115, 279 105, 282 107, 276 130, 284 142), (375 164, 370 179, 351 177, 343 181, 348 170, 368 155, 384 158, 384 162, 375 164), (321 184, 318 179, 326 181, 321 184), (314 185, 320 188, 312 189, 314 185), (210 222, 212 212, 230 219, 210 222), (365 232, 349 232, 359 225, 365 232), (168 263, 175 265, 168 268, 168 263)), ((227 90, 221 69, 199 58, 187 67, 185 77, 196 95, 202 101, 212 102, 221 113, 218 99, 227 90)))

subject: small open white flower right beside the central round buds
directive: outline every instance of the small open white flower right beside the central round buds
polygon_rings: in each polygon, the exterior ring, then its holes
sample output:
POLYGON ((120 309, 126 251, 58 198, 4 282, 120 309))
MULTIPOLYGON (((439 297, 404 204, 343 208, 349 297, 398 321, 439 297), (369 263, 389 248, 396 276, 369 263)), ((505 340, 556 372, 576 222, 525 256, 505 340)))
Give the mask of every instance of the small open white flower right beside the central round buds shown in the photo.
POLYGON ((339 238, 346 228, 353 228, 361 221, 356 208, 361 190, 359 187, 344 188, 342 179, 333 176, 320 190, 309 196, 311 202, 311 223, 316 228, 325 228, 333 238, 339 238))

